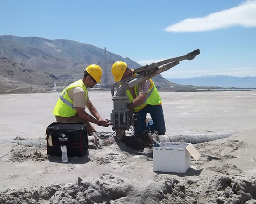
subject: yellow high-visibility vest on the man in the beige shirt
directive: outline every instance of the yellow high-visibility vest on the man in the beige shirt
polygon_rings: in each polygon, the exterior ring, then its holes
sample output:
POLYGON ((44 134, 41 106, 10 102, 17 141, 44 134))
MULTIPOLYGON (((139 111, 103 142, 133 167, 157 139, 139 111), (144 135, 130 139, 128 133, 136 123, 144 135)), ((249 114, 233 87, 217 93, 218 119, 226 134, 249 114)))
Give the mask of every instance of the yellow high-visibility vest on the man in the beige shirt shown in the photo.
POLYGON ((86 90, 86 85, 84 85, 82 80, 77 80, 62 91, 58 98, 57 104, 53 109, 53 115, 60 117, 71 117, 77 114, 76 108, 73 107, 73 101, 68 96, 68 90, 74 87, 82 87, 86 93, 84 100, 87 100, 88 93, 86 90))

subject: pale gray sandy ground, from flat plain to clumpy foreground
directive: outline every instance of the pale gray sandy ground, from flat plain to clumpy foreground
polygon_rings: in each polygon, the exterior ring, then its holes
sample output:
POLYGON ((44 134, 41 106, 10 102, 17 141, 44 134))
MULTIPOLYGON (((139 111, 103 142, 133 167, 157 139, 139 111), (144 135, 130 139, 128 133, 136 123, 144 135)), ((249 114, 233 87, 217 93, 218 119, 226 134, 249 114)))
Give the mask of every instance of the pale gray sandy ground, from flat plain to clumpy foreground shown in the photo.
MULTIPOLYGON (((116 143, 62 163, 44 139, 59 93, 0 95, 0 203, 256 203, 256 92, 160 95, 166 135, 230 135, 194 144, 201 157, 185 174, 154 172, 152 149, 116 143)), ((109 118, 110 92, 89 96, 109 118)))

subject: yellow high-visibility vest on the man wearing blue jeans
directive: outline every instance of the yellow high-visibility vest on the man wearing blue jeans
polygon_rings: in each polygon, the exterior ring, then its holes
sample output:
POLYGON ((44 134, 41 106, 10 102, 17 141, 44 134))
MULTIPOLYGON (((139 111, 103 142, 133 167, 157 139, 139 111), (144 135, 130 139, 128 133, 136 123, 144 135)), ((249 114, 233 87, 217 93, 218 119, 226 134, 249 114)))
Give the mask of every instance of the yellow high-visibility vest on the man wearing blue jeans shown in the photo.
MULTIPOLYGON (((134 74, 134 75, 136 75, 136 74, 134 74)), ((157 88, 156 88, 154 82, 151 79, 149 79, 149 80, 150 80, 150 89, 148 90, 148 93, 147 93, 147 96, 146 96, 146 102, 144 104, 141 104, 140 106, 135 107, 133 109, 134 112, 140 111, 146 105, 153 105, 154 106, 154 105, 162 104, 161 97, 160 97, 160 95, 157 91, 157 88)), ((134 92, 135 92, 136 98, 139 95, 138 89, 139 89, 139 86, 135 85, 134 86, 134 92)), ((129 103, 131 103, 135 98, 133 98, 133 96, 132 96, 132 94, 129 90, 126 90, 126 94, 127 94, 128 99, 129 99, 129 103)))

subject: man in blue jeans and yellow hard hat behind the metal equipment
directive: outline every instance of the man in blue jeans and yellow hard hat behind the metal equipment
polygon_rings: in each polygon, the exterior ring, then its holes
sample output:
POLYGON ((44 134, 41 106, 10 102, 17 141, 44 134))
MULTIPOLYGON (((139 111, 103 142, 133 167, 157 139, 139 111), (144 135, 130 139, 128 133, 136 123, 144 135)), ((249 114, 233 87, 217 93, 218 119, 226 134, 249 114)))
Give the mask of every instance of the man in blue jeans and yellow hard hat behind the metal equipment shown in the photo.
MULTIPOLYGON (((133 69, 129 69, 127 64, 117 61, 112 65, 111 72, 116 82, 136 75, 133 69)), ((135 85, 126 91, 129 104, 128 108, 137 114, 137 125, 135 125, 135 135, 141 135, 144 130, 157 131, 159 135, 165 134, 165 121, 162 109, 162 100, 154 85, 149 79, 135 85), (151 118, 147 118, 147 113, 151 118), (146 121, 146 122, 145 122, 146 121)))

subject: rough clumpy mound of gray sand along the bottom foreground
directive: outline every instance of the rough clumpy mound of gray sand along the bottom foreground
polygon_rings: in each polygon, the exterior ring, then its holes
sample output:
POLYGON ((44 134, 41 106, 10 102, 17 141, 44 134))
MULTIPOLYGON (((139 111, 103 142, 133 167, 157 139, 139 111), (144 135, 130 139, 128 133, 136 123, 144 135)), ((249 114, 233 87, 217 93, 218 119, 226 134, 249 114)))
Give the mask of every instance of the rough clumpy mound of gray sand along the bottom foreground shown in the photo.
POLYGON ((256 179, 221 176, 198 181, 161 176, 141 184, 104 173, 75 183, 4 190, 1 203, 255 203, 256 179), (200 196, 204 195, 204 196, 200 196))

